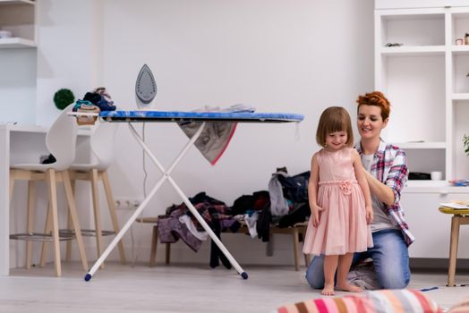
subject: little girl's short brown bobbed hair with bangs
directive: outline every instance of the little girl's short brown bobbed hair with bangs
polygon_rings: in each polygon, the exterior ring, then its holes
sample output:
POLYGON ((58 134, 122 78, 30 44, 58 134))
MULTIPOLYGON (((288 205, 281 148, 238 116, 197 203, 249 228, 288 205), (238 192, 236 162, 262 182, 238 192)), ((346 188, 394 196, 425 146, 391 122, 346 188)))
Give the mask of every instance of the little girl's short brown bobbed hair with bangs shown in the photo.
POLYGON ((352 147, 354 144, 354 131, 352 131, 352 122, 350 115, 342 106, 330 106, 320 114, 320 123, 316 131, 316 142, 321 147, 326 147, 326 138, 328 134, 336 131, 345 131, 347 133, 346 147, 352 147))

